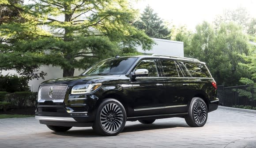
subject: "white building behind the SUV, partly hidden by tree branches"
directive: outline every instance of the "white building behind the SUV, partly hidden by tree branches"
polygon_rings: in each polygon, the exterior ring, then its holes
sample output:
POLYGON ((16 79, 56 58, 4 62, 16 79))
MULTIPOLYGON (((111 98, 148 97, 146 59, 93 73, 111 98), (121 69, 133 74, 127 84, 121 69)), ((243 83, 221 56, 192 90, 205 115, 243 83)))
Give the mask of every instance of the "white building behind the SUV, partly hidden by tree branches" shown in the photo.
MULTIPOLYGON (((150 51, 144 51, 141 47, 138 47, 138 52, 147 53, 147 54, 166 54, 166 55, 175 55, 175 56, 184 56, 184 47, 183 42, 180 41, 170 41, 170 40, 163 40, 163 39, 157 39, 153 38, 153 40, 156 42, 156 44, 153 46, 152 50, 150 51)), ((40 67, 39 71, 44 71, 47 73, 45 76, 45 80, 43 79, 34 79, 32 81, 29 81, 28 85, 30 86, 31 91, 37 92, 38 87, 41 82, 53 79, 53 78, 62 78, 63 70, 60 67, 52 67, 52 66, 44 66, 40 67)), ((82 74, 84 70, 75 70, 74 76, 78 76, 79 74, 82 74)), ((6 74, 17 74, 15 70, 8 70, 8 71, 2 71, 3 75, 6 74)))

